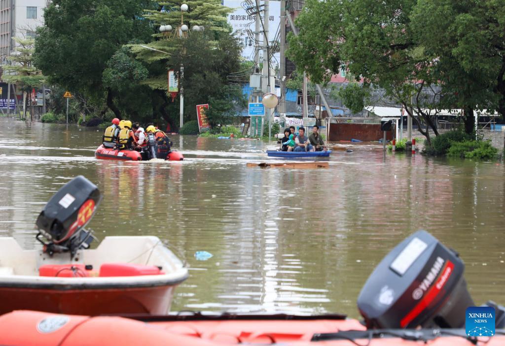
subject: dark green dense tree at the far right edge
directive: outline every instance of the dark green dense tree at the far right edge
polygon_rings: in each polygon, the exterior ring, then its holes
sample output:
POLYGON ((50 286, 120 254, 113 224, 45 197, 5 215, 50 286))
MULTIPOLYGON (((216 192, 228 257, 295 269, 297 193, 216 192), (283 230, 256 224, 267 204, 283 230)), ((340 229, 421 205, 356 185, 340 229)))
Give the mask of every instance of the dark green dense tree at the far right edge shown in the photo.
POLYGON ((449 100, 505 117, 505 0, 420 0, 412 18, 449 100))

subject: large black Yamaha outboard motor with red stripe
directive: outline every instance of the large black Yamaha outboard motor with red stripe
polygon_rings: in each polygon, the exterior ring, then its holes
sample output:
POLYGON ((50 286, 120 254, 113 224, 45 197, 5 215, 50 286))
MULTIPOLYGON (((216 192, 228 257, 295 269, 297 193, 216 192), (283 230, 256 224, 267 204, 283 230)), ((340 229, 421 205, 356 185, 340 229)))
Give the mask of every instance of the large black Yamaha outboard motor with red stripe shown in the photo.
POLYGON ((397 245, 358 297, 368 328, 464 328, 474 306, 458 254, 425 231, 397 245))

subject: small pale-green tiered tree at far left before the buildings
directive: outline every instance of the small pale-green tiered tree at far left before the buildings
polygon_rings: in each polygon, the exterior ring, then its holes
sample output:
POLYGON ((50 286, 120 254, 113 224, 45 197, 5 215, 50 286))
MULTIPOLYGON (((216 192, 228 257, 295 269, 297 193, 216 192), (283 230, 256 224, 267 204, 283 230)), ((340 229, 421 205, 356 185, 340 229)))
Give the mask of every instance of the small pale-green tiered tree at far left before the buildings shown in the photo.
MULTIPOLYGON (((34 87, 39 87, 44 80, 44 76, 33 64, 33 39, 22 39, 15 37, 17 43, 16 54, 11 55, 9 65, 5 65, 2 79, 4 82, 16 85, 16 88, 21 88, 23 93, 23 117, 26 119, 26 94, 31 95, 30 91, 34 87)), ((31 97, 29 97, 31 100, 31 97)), ((9 101, 10 102, 10 101, 9 101)), ((31 104, 31 102, 30 102, 31 104)), ((33 119, 33 109, 30 112, 30 118, 33 119)))

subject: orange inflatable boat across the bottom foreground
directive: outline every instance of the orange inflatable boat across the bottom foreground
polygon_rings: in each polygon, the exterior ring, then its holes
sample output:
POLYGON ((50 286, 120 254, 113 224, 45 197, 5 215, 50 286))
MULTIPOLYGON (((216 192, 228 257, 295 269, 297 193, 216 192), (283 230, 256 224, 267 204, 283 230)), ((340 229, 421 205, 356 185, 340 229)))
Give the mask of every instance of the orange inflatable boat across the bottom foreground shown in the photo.
POLYGON ((14 311, 0 316, 0 344, 38 346, 149 345, 218 346, 282 344, 297 346, 471 346, 505 344, 503 330, 492 337, 469 337, 463 329, 366 330, 341 316, 192 317, 164 316, 145 321, 114 316, 69 316, 14 311), (230 320, 230 318, 233 318, 230 320))

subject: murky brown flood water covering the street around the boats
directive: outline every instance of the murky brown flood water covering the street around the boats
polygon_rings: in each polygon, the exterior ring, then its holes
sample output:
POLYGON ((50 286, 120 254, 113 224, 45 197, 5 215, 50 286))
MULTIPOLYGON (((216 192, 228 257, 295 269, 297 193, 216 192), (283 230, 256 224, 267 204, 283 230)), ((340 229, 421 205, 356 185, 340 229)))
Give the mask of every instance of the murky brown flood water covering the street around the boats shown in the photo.
POLYGON ((102 130, 0 118, 0 236, 36 246, 41 208, 82 174, 104 195, 89 224, 99 239, 156 235, 187 260, 172 310, 358 317, 368 275, 418 229, 460 253, 477 304, 505 303, 501 163, 384 159, 380 146, 349 144, 329 169, 246 168, 271 160, 264 143, 177 135, 183 162, 115 162, 94 158, 101 139, 102 130))

